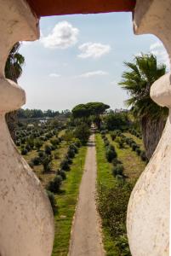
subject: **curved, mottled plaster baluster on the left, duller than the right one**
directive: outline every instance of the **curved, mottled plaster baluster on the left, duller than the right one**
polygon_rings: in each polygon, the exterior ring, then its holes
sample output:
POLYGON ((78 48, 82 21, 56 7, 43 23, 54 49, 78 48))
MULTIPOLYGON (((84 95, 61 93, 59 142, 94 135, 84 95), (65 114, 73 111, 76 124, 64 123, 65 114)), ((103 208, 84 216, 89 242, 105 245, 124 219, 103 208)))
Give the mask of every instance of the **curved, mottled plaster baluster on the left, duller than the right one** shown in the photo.
POLYGON ((54 216, 41 183, 20 156, 4 115, 26 102, 25 91, 4 78, 15 42, 39 37, 38 20, 23 0, 0 1, 0 255, 50 256, 54 216))

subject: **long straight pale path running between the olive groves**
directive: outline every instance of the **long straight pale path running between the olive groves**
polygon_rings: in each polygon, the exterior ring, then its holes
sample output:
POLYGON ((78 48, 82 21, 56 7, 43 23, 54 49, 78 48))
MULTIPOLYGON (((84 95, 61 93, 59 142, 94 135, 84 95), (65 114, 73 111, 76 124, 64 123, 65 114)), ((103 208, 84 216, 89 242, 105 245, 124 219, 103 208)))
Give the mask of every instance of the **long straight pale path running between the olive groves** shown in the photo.
POLYGON ((100 221, 95 206, 96 157, 94 134, 88 143, 79 200, 72 226, 69 256, 105 255, 100 235, 100 221))

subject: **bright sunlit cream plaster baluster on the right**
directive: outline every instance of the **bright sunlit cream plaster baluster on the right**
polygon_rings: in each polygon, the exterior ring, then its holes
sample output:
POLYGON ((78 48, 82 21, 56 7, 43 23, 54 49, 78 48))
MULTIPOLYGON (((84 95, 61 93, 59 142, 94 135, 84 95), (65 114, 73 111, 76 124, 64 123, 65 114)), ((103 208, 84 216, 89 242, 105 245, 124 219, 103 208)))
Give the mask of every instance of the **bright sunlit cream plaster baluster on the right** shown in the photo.
MULTIPOLYGON (((171 1, 137 0, 134 32, 152 33, 170 55, 171 1)), ((170 73, 151 87, 151 98, 171 108, 170 73)), ((128 203, 128 241, 133 256, 169 255, 171 113, 151 161, 136 183, 128 203)))

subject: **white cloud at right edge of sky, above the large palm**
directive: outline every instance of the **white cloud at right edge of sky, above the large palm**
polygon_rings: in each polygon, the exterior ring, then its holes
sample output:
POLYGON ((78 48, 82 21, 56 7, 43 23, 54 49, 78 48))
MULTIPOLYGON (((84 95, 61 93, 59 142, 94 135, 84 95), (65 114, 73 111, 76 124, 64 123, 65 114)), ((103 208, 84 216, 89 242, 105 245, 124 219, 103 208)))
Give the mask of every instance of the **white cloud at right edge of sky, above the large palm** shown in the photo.
POLYGON ((170 65, 169 65, 168 53, 166 49, 163 47, 162 43, 157 41, 156 43, 151 44, 150 50, 153 55, 157 56, 157 60, 161 63, 164 63, 167 69, 169 69, 170 65))

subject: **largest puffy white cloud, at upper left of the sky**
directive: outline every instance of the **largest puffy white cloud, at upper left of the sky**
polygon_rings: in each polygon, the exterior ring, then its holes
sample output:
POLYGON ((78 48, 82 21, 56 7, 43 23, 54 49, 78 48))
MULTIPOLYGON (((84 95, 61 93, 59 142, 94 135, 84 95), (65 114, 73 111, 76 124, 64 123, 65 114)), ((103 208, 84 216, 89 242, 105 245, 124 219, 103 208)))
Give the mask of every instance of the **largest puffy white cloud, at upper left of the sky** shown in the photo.
POLYGON ((78 32, 77 27, 64 20, 56 24, 48 36, 42 36, 41 43, 45 48, 66 49, 77 43, 78 32))

